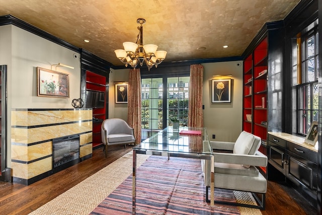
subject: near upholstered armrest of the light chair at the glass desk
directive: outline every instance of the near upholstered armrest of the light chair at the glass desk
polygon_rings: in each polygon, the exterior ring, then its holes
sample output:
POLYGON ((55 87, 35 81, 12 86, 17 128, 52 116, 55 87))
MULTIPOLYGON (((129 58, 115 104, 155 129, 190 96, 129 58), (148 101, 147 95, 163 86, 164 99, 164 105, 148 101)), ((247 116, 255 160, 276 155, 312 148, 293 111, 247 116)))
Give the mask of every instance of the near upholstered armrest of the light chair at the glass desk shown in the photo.
POLYGON ((267 156, 265 155, 243 155, 232 153, 214 153, 214 159, 217 163, 241 164, 256 167, 267 166, 267 156))

